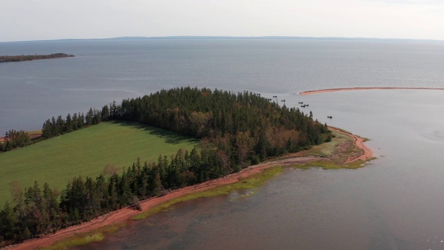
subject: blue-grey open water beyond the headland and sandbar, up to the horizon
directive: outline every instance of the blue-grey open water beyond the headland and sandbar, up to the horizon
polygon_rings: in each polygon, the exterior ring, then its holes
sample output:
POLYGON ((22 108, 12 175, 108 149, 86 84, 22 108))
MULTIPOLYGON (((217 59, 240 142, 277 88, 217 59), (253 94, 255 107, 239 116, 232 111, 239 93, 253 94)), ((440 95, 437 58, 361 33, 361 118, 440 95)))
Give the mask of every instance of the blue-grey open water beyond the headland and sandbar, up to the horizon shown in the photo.
MULTIPOLYGON (((0 55, 74 58, 0 64, 0 135, 53 116, 180 86, 297 94, 342 87, 443 87, 444 42, 89 40, 2 42, 0 55)), ((287 103, 288 105, 288 103, 287 103)))

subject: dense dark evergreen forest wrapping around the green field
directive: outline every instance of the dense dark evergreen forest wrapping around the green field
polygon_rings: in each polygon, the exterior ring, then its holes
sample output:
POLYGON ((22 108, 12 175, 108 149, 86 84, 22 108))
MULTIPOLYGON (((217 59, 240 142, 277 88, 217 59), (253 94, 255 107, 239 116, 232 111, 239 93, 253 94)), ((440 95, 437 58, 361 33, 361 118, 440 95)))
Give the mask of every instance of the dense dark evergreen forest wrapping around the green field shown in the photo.
MULTIPOLYGON (((44 138, 106 120, 129 120, 200 138, 200 147, 155 163, 138 159, 122 174, 78 176, 58 192, 48 183, 24 190, 12 185, 14 204, 0 210, 0 246, 22 242, 118 208, 139 209, 139 200, 202 183, 331 140, 327 126, 298 108, 280 107, 259 94, 176 88, 113 102, 66 119, 44 122, 44 138)), ((17 183, 15 183, 17 184, 17 183)))

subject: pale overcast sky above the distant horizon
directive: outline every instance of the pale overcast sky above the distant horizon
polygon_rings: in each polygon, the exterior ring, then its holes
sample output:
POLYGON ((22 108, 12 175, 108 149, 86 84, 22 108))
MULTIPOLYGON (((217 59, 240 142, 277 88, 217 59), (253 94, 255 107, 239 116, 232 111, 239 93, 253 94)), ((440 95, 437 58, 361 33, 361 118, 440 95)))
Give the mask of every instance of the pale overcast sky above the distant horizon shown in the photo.
POLYGON ((444 40, 444 0, 0 0, 0 41, 228 35, 444 40))

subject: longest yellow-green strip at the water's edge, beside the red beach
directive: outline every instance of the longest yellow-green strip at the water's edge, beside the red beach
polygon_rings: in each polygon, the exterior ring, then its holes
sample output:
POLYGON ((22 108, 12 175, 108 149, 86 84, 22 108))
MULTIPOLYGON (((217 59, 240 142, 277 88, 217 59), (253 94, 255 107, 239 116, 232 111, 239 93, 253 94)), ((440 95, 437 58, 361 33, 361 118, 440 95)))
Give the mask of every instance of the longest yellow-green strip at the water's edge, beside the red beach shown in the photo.
POLYGON ((189 201, 191 199, 198 199, 198 198, 204 198, 204 197, 216 197, 218 195, 222 194, 230 194, 232 190, 255 190, 255 188, 260 187, 265 183, 266 180, 273 176, 277 176, 278 174, 281 174, 283 171, 283 167, 276 166, 271 167, 268 169, 264 169, 259 174, 255 174, 253 176, 250 176, 248 178, 239 179, 238 182, 232 183, 229 185, 221 185, 216 188, 212 188, 210 190, 205 190, 202 192, 196 192, 193 194, 186 194, 182 197, 178 197, 176 199, 171 199, 169 201, 165 201, 164 203, 161 203, 158 206, 155 206, 154 208, 151 208, 150 210, 146 210, 144 213, 140 213, 139 215, 136 215, 133 217, 133 219, 145 219, 146 217, 149 217, 150 215, 153 215, 155 213, 160 213, 163 211, 167 211, 176 203, 180 203, 183 201, 189 201))

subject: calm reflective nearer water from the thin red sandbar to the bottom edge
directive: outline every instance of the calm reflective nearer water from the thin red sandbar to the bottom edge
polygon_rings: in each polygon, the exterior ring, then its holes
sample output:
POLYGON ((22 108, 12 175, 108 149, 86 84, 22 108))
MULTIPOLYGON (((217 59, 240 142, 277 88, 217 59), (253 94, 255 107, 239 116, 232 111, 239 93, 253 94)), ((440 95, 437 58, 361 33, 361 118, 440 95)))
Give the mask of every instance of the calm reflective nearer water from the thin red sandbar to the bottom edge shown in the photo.
POLYGON ((287 169, 251 196, 187 201, 79 249, 444 249, 444 91, 285 98, 370 138, 378 159, 287 169))

